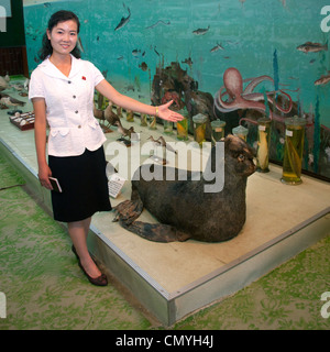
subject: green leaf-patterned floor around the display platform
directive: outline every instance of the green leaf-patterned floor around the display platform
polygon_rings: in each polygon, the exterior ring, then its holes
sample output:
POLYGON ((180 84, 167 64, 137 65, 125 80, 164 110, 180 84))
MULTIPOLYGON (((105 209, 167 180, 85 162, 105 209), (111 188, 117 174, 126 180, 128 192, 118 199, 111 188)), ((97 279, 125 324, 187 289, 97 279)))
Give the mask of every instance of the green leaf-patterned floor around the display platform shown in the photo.
MULTIPOLYGON (((113 285, 88 283, 66 232, 25 193, 24 180, 1 155, 0 175, 0 293, 7 298, 0 330, 164 328, 113 285)), ((172 329, 329 330, 330 318, 321 315, 324 292, 330 237, 172 329)), ((327 316, 330 307, 322 311, 327 316)))

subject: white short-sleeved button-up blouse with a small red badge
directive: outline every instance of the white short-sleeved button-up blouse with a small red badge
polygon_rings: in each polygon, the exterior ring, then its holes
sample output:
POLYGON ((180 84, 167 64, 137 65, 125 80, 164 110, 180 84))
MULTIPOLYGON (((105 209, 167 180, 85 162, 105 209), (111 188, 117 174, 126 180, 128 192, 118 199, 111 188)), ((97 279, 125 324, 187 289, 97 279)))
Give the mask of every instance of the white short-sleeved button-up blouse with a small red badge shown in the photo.
POLYGON ((72 55, 66 77, 46 58, 32 73, 29 99, 44 98, 50 130, 48 155, 81 155, 107 140, 94 117, 95 87, 105 77, 94 64, 72 55))

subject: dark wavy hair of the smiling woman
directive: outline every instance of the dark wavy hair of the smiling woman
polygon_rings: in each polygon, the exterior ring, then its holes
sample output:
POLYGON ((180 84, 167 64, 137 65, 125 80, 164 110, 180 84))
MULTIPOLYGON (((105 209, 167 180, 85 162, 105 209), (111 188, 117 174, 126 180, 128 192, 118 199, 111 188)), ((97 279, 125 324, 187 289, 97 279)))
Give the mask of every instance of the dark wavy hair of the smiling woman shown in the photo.
MULTIPOLYGON (((77 23, 77 34, 78 34, 79 33, 79 29, 80 29, 79 19, 77 18, 77 15, 74 12, 65 11, 65 10, 61 10, 61 11, 57 11, 57 12, 52 14, 52 16, 51 16, 51 19, 48 21, 47 30, 50 32, 52 32, 53 28, 55 25, 57 25, 57 23, 69 21, 69 20, 73 20, 73 21, 75 21, 77 23)), ((45 33, 44 36, 43 36, 42 48, 38 52, 38 57, 42 61, 44 61, 48 55, 52 55, 52 53, 53 53, 53 47, 52 47, 51 41, 47 37, 47 33, 45 33)), ((80 58, 81 57, 80 51, 77 47, 77 45, 72 51, 72 54, 76 58, 80 58)))

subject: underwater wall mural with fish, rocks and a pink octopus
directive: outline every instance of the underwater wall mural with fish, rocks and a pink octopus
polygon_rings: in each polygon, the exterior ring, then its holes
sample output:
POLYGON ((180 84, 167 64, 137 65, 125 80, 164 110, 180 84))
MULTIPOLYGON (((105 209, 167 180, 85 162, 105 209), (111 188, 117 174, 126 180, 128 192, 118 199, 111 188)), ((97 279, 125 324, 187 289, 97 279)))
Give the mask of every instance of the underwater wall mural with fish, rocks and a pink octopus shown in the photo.
POLYGON ((243 124, 272 119, 271 160, 284 155, 284 121, 305 117, 302 169, 330 179, 330 3, 327 0, 24 0, 30 70, 47 20, 79 16, 82 58, 121 92, 147 103, 174 99, 243 124), (328 2, 328 3, 327 3, 328 2))

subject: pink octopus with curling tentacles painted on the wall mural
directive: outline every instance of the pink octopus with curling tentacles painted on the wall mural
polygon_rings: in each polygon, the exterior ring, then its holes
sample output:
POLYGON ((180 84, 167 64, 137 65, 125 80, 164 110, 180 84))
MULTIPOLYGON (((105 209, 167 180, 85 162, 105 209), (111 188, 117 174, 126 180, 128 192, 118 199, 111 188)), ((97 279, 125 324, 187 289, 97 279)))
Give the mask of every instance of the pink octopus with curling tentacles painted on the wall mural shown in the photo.
MULTIPOLYGON (((256 88, 256 86, 264 80, 268 80, 274 84, 274 79, 266 75, 260 76, 256 78, 248 78, 243 80, 242 75, 237 68, 234 67, 228 68, 223 74, 223 86, 219 89, 219 91, 216 94, 216 97, 215 97, 215 105, 217 109, 221 112, 230 112, 238 109, 255 109, 255 110, 265 112, 266 111, 265 98, 266 98, 267 101, 272 103, 278 111, 283 113, 288 113, 293 108, 293 100, 288 94, 284 92, 280 89, 278 90, 288 99, 288 107, 285 109, 275 101, 274 97, 278 92, 277 90, 267 91, 265 94, 254 92, 254 89, 256 88), (248 82, 248 81, 250 82, 248 84, 245 89, 243 89, 243 82, 248 82), (228 96, 227 101, 223 100, 223 97, 226 96, 228 96)), ((271 120, 274 119, 276 121, 283 122, 285 118, 275 114, 270 109, 270 119, 271 120)), ((256 121, 253 121, 253 120, 249 120, 244 118, 241 119, 241 121, 242 120, 246 120, 249 122, 256 124, 256 121)))

